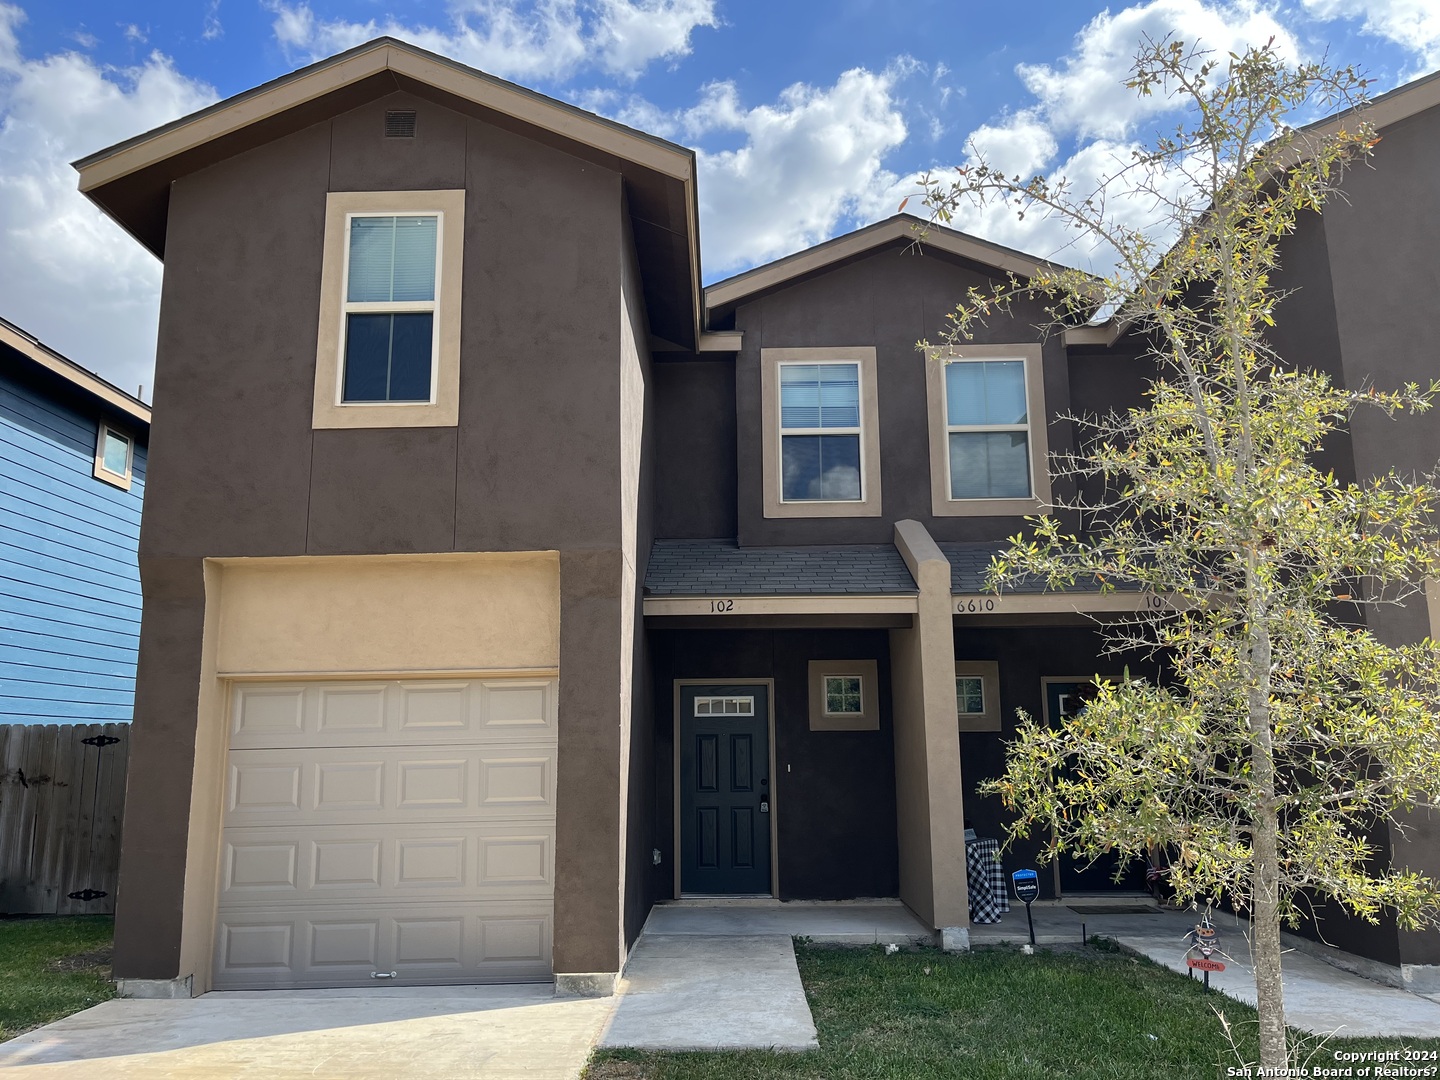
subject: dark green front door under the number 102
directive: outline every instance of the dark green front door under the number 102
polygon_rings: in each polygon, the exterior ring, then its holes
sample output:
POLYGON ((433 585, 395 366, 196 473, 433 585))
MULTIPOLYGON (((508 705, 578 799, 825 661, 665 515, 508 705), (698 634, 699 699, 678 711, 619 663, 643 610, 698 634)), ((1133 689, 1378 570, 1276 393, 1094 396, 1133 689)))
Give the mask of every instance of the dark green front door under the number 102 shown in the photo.
POLYGON ((680 891, 770 896, 770 700, 680 688, 680 891))

